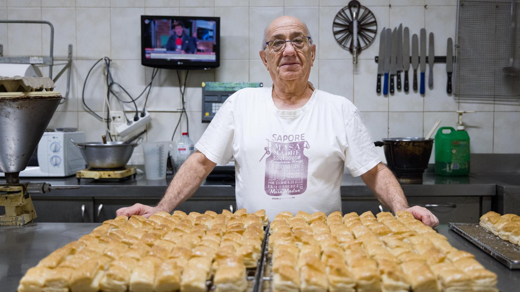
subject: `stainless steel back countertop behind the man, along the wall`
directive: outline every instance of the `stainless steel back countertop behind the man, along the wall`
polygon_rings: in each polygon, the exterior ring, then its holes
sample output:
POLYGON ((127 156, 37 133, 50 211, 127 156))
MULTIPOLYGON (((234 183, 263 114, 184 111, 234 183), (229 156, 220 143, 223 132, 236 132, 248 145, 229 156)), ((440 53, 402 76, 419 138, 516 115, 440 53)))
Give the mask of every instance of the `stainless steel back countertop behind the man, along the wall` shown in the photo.
MULTIPOLYGON (((112 197, 131 198, 148 197, 161 198, 170 183, 172 176, 163 180, 147 180, 144 174, 138 174, 136 178, 129 178, 122 182, 118 180, 96 181, 94 179, 82 179, 80 189, 53 190, 49 194, 34 195, 47 197, 112 197)), ((77 185, 75 176, 64 178, 49 177, 23 177, 22 182, 47 182, 51 185, 77 185)), ((234 180, 205 179, 193 197, 228 197, 235 198, 234 180)), ((431 172, 423 175, 421 185, 402 185, 406 196, 495 196, 496 184, 482 177, 438 176, 431 172)), ((372 191, 363 183, 361 177, 352 177, 349 173, 343 175, 341 184, 342 197, 373 197, 372 191)))

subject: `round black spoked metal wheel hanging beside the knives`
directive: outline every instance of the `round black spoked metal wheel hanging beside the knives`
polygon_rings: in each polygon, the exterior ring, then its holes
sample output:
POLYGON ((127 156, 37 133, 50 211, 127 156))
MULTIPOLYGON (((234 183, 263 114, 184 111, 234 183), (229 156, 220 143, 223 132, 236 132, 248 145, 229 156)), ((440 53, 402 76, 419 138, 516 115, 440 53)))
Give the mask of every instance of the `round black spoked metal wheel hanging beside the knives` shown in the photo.
POLYGON ((359 1, 350 1, 348 6, 343 7, 337 12, 332 23, 332 32, 337 43, 344 49, 353 53, 353 34, 354 34, 354 12, 356 12, 358 25, 358 52, 367 48, 374 41, 378 32, 378 22, 375 20, 374 13, 367 7, 361 6, 359 1))

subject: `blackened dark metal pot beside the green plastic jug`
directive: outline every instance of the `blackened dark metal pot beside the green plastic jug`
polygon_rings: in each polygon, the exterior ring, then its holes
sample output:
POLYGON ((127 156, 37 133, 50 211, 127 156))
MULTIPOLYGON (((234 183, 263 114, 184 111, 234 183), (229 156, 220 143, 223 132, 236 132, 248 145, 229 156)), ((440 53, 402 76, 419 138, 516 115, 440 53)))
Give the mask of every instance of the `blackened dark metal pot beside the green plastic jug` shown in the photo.
POLYGON ((401 184, 422 184, 422 174, 432 155, 433 138, 398 137, 375 142, 383 146, 388 168, 401 184))

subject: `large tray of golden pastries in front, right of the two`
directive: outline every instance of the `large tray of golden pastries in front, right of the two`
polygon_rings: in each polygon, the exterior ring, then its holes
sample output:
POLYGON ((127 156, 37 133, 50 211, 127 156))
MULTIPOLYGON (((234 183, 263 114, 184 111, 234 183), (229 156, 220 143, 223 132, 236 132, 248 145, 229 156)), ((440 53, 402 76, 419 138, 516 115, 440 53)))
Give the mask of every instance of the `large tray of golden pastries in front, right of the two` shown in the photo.
POLYGON ((258 291, 498 291, 497 275, 406 211, 278 214, 258 291))

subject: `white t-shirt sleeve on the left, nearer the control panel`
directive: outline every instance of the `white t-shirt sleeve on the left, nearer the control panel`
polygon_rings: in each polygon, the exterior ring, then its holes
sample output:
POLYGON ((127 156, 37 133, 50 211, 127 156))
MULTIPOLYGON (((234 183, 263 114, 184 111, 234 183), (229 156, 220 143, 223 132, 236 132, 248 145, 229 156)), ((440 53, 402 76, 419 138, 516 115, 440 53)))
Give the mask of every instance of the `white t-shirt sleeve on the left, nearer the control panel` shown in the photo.
POLYGON ((226 164, 233 158, 232 143, 235 134, 232 113, 233 97, 231 95, 220 106, 210 125, 195 145, 195 148, 201 151, 207 159, 217 164, 226 164))

